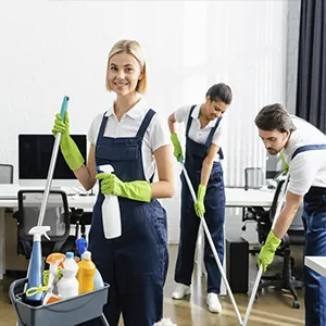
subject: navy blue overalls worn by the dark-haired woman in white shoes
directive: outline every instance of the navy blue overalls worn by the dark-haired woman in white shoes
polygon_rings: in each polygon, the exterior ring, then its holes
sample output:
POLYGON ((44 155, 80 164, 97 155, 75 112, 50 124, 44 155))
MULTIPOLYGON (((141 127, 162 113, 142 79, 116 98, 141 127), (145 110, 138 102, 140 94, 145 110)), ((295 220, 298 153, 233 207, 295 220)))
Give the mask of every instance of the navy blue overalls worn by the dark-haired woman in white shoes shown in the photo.
MULTIPOLYGON (((218 127, 221 118, 217 118, 215 126, 205 143, 198 143, 189 138, 191 126, 191 113, 196 105, 191 106, 188 124, 186 128, 186 160, 185 166, 189 174, 192 187, 197 192, 200 185, 202 162, 208 154, 212 143, 215 130, 218 127)), ((223 152, 220 150, 220 158, 223 159, 223 152)), ((175 269, 175 281, 184 285, 191 284, 193 268, 193 256, 200 218, 196 215, 193 200, 190 195, 187 181, 181 174, 181 216, 180 216, 180 239, 178 258, 175 269)), ((205 214, 204 218, 210 229, 213 242, 215 244, 218 258, 223 264, 224 258, 224 215, 225 215, 225 191, 223 180, 223 170, 220 162, 214 162, 210 179, 206 186, 204 198, 205 214)), ((205 237, 204 264, 208 272, 208 292, 220 293, 221 273, 215 262, 213 252, 205 237)))

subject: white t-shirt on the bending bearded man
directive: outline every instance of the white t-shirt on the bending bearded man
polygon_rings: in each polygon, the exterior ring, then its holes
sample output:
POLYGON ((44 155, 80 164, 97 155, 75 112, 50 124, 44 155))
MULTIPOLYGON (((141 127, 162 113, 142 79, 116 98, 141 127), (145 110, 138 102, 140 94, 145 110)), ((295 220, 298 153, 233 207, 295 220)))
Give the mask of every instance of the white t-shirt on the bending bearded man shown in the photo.
POLYGON ((326 135, 306 121, 294 115, 291 117, 297 130, 292 133, 284 150, 290 173, 288 190, 302 196, 311 186, 326 188, 326 150, 301 152, 293 160, 291 156, 297 148, 304 145, 326 143, 326 135))

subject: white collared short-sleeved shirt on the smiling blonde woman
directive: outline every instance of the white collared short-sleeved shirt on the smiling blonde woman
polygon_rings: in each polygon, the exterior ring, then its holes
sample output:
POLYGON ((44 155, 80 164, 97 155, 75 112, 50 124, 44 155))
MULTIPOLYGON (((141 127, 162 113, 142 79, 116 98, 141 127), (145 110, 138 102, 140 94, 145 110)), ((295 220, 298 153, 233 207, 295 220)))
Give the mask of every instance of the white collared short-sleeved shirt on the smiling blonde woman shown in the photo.
MULTIPOLYGON (((125 113, 118 122, 113 110, 113 104, 105 113, 108 116, 104 135, 106 137, 120 138, 120 137, 135 137, 145 118, 145 115, 151 108, 141 99, 135 104, 127 113, 125 113)), ((88 140, 90 143, 96 145, 98 134, 102 123, 103 113, 97 115, 91 123, 88 131, 88 140)), ((170 145, 170 137, 167 128, 163 124, 158 113, 152 117, 149 127, 147 128, 142 139, 142 166, 146 179, 155 172, 155 160, 153 153, 162 146, 170 145)))

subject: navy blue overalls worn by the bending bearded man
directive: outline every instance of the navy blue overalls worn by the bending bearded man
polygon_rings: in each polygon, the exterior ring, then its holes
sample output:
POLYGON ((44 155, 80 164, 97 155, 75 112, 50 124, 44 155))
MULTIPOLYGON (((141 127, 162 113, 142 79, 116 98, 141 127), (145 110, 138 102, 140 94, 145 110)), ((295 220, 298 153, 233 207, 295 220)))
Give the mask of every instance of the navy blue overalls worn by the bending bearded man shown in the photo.
MULTIPOLYGON (((309 145, 298 148, 291 160, 301 152, 326 150, 326 145, 309 145)), ((326 186, 311 187, 303 199, 304 255, 326 255, 326 186)), ((304 266, 305 325, 326 325, 326 278, 304 266)))

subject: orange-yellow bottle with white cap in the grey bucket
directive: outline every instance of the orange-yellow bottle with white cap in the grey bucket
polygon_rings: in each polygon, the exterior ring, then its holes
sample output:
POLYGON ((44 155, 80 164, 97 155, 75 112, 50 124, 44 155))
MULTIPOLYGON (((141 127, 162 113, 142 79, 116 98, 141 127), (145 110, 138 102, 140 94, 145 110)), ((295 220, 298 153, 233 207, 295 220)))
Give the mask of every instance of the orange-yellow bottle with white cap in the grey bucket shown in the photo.
POLYGON ((82 262, 78 264, 77 279, 79 281, 79 294, 87 293, 93 290, 93 276, 96 265, 91 261, 90 251, 83 253, 82 262))

